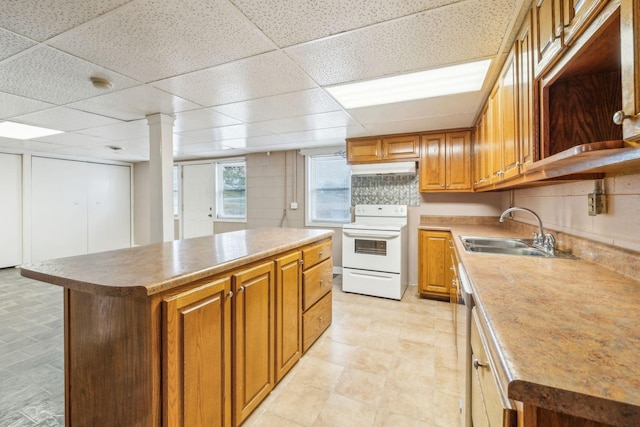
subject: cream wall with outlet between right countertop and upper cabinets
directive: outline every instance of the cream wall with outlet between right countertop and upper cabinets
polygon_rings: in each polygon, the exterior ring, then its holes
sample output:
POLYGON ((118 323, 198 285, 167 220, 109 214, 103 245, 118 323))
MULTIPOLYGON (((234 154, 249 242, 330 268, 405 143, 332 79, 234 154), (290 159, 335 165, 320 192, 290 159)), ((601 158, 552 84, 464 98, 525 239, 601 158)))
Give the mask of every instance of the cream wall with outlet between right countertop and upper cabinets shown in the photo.
MULTIPOLYGON (((593 192, 595 183, 588 180, 515 190, 514 204, 535 211, 545 228, 640 251, 640 174, 604 179, 607 212, 589 216, 587 194, 593 192)), ((508 206, 509 192, 503 192, 502 207, 508 206)), ((518 214, 516 219, 537 225, 527 214, 518 214)))

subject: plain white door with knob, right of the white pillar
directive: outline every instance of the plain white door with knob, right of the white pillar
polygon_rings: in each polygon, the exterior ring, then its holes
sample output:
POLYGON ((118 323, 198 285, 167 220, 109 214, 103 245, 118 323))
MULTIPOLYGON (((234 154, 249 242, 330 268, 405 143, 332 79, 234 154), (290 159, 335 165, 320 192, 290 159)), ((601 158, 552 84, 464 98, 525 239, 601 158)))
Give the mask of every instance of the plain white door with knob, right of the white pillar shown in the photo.
POLYGON ((182 166, 182 238, 213 235, 213 163, 182 166))

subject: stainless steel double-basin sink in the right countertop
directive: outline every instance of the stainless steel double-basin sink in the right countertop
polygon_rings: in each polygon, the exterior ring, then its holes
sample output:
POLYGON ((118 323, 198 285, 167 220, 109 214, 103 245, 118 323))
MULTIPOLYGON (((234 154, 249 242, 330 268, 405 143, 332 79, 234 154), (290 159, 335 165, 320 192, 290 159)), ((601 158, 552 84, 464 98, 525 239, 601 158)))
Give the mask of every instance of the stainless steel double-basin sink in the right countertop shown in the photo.
POLYGON ((525 255, 545 258, 576 258, 567 252, 556 251, 549 255, 542 249, 533 246, 533 240, 501 237, 460 236, 467 252, 479 252, 505 255, 525 255))

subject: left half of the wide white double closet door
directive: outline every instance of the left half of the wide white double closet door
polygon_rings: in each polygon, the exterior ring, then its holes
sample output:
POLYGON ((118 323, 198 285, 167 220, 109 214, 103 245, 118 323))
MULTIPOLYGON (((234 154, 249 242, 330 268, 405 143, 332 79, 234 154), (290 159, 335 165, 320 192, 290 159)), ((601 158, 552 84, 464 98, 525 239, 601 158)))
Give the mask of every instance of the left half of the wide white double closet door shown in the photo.
POLYGON ((31 160, 32 259, 87 253, 87 163, 31 160))

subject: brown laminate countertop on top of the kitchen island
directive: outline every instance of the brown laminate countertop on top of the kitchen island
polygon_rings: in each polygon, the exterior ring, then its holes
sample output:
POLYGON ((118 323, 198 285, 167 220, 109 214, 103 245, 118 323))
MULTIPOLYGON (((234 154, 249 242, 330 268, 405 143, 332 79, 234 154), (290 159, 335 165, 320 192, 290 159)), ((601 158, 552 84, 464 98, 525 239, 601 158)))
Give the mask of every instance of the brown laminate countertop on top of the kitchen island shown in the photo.
POLYGON ((99 252, 21 266, 21 274, 77 291, 148 297, 333 235, 262 228, 99 252))

